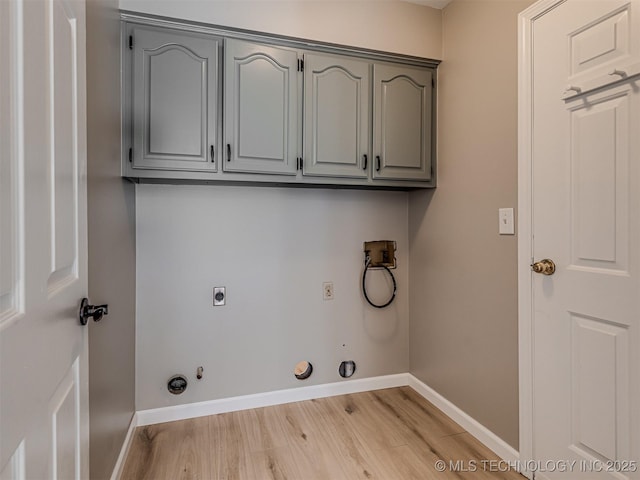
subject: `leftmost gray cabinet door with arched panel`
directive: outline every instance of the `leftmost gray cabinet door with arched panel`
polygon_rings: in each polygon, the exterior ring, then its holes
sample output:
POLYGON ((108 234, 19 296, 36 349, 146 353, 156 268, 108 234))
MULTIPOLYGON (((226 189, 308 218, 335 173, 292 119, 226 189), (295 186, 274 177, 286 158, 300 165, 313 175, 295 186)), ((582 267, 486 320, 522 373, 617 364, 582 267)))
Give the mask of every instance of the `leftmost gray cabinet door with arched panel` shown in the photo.
POLYGON ((218 40, 134 27, 133 168, 215 171, 218 40))

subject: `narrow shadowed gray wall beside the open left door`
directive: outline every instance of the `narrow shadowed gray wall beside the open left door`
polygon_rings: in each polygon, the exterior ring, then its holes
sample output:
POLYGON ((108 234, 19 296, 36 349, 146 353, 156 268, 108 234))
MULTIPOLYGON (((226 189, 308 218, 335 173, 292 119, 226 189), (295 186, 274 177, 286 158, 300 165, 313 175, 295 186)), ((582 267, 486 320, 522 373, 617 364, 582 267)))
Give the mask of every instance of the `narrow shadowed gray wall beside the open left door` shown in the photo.
POLYGON ((91 478, 109 478, 135 410, 135 196, 120 178, 117 0, 87 2, 91 478))

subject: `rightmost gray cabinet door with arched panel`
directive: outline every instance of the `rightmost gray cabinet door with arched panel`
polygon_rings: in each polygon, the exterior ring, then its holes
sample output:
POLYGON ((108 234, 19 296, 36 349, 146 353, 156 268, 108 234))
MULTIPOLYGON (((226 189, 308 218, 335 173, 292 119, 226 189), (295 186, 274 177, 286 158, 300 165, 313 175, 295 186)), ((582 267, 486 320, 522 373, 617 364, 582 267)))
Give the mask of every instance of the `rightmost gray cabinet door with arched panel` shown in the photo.
POLYGON ((374 65, 373 178, 431 179, 432 72, 374 65))

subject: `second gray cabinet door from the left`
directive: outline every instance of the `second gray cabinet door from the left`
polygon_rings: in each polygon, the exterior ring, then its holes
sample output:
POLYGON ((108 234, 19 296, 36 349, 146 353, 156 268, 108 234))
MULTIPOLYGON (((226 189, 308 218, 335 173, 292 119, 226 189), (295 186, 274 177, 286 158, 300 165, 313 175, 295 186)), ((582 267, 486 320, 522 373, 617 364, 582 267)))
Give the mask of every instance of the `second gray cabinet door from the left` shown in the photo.
POLYGON ((296 174, 297 69, 295 50, 225 40, 225 171, 296 174))

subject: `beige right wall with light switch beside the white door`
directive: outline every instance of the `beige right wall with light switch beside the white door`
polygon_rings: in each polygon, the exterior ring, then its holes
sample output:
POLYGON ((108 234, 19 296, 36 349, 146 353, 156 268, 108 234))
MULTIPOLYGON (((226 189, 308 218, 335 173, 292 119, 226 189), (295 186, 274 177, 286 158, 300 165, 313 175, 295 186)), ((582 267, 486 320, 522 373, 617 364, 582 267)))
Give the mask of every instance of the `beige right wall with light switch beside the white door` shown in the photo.
POLYGON ((409 200, 411 373, 518 448, 517 14, 529 1, 443 12, 438 188, 409 200))

